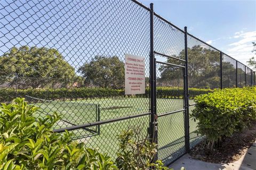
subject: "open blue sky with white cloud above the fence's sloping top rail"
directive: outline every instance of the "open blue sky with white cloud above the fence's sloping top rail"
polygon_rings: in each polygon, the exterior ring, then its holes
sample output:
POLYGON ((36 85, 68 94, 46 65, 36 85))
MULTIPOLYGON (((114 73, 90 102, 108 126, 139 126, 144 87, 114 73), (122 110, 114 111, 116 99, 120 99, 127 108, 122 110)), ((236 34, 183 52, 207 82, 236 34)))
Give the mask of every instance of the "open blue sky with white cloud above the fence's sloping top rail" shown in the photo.
POLYGON ((256 42, 256 1, 140 1, 174 25, 246 64, 256 42))

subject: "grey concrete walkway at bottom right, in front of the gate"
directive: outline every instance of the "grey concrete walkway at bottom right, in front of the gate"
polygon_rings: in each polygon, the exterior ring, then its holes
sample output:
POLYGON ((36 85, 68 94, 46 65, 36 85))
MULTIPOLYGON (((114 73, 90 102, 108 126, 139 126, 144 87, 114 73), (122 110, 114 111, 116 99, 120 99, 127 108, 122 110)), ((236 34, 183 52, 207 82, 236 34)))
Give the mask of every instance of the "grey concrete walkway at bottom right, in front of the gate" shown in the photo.
POLYGON ((239 160, 234 163, 206 163, 201 160, 193 159, 188 154, 186 154, 170 165, 170 167, 174 170, 180 170, 182 166, 185 167, 186 170, 256 170, 256 141, 252 145, 252 147, 247 150, 246 154, 244 154, 239 160))

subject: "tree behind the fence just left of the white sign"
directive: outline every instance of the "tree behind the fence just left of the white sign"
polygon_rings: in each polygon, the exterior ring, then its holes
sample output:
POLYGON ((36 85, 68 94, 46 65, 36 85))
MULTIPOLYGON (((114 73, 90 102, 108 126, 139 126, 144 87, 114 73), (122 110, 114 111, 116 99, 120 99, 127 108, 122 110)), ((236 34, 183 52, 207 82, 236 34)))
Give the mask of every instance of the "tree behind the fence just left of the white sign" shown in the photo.
POLYGON ((103 88, 120 89, 124 83, 124 63, 117 56, 95 56, 78 70, 85 78, 85 84, 103 88))

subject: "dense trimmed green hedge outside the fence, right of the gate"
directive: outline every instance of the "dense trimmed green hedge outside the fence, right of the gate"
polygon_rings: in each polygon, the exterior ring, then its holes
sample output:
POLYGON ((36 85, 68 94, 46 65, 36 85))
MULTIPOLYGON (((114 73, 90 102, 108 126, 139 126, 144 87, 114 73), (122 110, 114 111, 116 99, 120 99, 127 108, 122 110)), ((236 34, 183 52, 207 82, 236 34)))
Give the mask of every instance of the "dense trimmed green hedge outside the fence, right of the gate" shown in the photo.
POLYGON ((207 148, 256 120, 256 87, 215 90, 195 97, 191 117, 198 122, 198 133, 206 136, 207 148))

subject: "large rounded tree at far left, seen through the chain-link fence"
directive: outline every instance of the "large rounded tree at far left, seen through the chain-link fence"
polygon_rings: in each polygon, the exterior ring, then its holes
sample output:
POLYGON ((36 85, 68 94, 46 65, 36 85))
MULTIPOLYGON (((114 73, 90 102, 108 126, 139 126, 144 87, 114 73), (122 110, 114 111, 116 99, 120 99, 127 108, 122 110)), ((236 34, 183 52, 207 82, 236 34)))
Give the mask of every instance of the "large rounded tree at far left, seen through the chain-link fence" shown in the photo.
POLYGON ((2 81, 25 84, 26 87, 45 87, 53 83, 67 86, 76 73, 54 48, 13 47, 0 57, 2 81))

